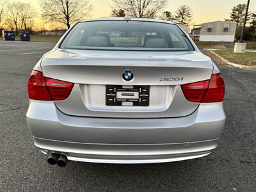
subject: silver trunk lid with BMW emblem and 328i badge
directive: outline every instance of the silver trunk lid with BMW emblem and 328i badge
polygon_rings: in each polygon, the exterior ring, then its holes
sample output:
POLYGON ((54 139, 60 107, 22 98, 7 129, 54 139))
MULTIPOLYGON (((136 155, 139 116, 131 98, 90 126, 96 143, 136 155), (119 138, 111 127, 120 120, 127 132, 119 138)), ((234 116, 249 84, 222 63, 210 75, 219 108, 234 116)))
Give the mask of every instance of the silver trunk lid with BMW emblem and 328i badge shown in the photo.
POLYGON ((186 100, 180 84, 204 81, 212 74, 211 60, 196 51, 58 49, 43 58, 41 67, 45 77, 75 83, 67 99, 54 101, 63 113, 120 118, 189 115, 199 103, 186 100), (132 72, 131 81, 124 80, 125 70, 132 72), (149 104, 108 106, 106 85, 123 90, 148 86, 149 104))

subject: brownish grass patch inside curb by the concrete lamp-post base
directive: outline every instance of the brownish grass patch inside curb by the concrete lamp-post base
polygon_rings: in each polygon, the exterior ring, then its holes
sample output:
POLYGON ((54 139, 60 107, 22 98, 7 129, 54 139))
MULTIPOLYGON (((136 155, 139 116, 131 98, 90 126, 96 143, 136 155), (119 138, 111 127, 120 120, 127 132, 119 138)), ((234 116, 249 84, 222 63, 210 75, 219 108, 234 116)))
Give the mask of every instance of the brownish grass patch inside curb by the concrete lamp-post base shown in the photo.
POLYGON ((234 53, 232 49, 220 49, 214 52, 232 63, 256 66, 256 52, 234 53))

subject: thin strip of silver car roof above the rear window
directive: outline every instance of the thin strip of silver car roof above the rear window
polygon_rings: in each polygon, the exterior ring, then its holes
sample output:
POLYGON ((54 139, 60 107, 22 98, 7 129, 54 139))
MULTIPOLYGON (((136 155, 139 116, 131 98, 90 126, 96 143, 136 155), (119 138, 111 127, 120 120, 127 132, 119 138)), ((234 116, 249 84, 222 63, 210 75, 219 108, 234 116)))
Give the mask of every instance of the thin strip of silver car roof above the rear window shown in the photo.
MULTIPOLYGON (((125 17, 99 17, 95 19, 84 19, 80 20, 79 22, 88 22, 88 21, 102 21, 102 20, 128 20, 125 17)), ((161 19, 149 19, 149 18, 138 18, 138 17, 129 17, 129 20, 136 20, 136 21, 147 21, 147 22, 163 22, 168 24, 175 24, 169 20, 161 20, 161 19)))

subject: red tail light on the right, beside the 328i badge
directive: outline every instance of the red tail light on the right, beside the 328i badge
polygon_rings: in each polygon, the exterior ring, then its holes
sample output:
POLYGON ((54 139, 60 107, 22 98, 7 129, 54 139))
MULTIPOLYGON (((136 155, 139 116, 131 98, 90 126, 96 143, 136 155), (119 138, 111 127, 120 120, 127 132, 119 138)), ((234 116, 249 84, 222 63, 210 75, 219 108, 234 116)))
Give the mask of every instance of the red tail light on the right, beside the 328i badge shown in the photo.
POLYGON ((182 84, 181 88, 190 102, 221 102, 225 94, 221 74, 213 74, 210 80, 182 84))

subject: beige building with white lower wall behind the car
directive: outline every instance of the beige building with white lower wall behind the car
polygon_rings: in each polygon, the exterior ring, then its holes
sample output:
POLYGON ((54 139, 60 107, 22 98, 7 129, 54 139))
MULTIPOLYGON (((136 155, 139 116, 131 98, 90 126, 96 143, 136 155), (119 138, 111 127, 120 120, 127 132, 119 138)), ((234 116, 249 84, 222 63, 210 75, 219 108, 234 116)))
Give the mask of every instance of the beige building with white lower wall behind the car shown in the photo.
POLYGON ((234 42, 236 23, 228 21, 214 21, 201 24, 200 42, 234 42))

